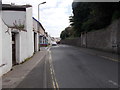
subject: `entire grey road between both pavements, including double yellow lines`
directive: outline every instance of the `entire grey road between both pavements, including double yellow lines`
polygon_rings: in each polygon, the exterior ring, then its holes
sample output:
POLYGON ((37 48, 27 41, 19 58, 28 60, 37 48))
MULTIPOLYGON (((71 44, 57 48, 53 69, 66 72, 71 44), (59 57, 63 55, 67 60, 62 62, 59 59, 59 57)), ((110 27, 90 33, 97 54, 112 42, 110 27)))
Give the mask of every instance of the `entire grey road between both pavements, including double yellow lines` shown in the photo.
POLYGON ((16 88, 117 88, 118 63, 58 45, 16 88))

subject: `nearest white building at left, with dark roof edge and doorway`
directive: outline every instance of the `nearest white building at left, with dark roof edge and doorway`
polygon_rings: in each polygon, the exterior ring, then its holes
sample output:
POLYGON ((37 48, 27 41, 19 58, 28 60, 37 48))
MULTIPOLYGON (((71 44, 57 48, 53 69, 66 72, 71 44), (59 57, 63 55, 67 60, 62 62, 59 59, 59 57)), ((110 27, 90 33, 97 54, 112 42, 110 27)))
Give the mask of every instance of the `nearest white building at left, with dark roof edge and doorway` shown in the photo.
POLYGON ((2 74, 33 55, 31 5, 2 5, 2 49, 2 74))

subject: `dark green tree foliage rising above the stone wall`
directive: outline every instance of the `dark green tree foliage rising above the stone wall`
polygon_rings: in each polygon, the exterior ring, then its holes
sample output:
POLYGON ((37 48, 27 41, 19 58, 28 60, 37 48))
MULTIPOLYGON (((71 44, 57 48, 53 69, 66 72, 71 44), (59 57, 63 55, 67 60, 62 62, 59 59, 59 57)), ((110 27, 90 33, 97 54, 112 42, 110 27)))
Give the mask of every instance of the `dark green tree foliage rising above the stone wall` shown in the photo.
POLYGON ((73 16, 69 17, 72 28, 62 31, 62 39, 105 28, 120 18, 120 2, 73 2, 72 9, 73 16))

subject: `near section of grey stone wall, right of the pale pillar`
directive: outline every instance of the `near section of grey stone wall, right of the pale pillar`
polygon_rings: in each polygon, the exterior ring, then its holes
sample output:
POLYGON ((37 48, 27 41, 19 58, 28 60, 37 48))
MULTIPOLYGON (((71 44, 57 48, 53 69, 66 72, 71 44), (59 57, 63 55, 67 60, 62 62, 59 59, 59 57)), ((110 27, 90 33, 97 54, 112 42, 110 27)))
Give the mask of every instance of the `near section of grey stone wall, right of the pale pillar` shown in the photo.
POLYGON ((86 47, 117 53, 119 23, 117 20, 107 28, 86 33, 86 47))

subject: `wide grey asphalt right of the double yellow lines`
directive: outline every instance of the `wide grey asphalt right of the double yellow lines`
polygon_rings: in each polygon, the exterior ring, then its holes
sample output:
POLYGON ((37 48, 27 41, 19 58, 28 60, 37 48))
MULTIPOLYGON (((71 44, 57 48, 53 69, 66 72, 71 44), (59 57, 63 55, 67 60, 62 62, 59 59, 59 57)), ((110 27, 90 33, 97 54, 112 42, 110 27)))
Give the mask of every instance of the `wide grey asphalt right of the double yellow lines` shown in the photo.
POLYGON ((118 63, 59 45, 51 48, 59 88, 118 88, 118 63))

